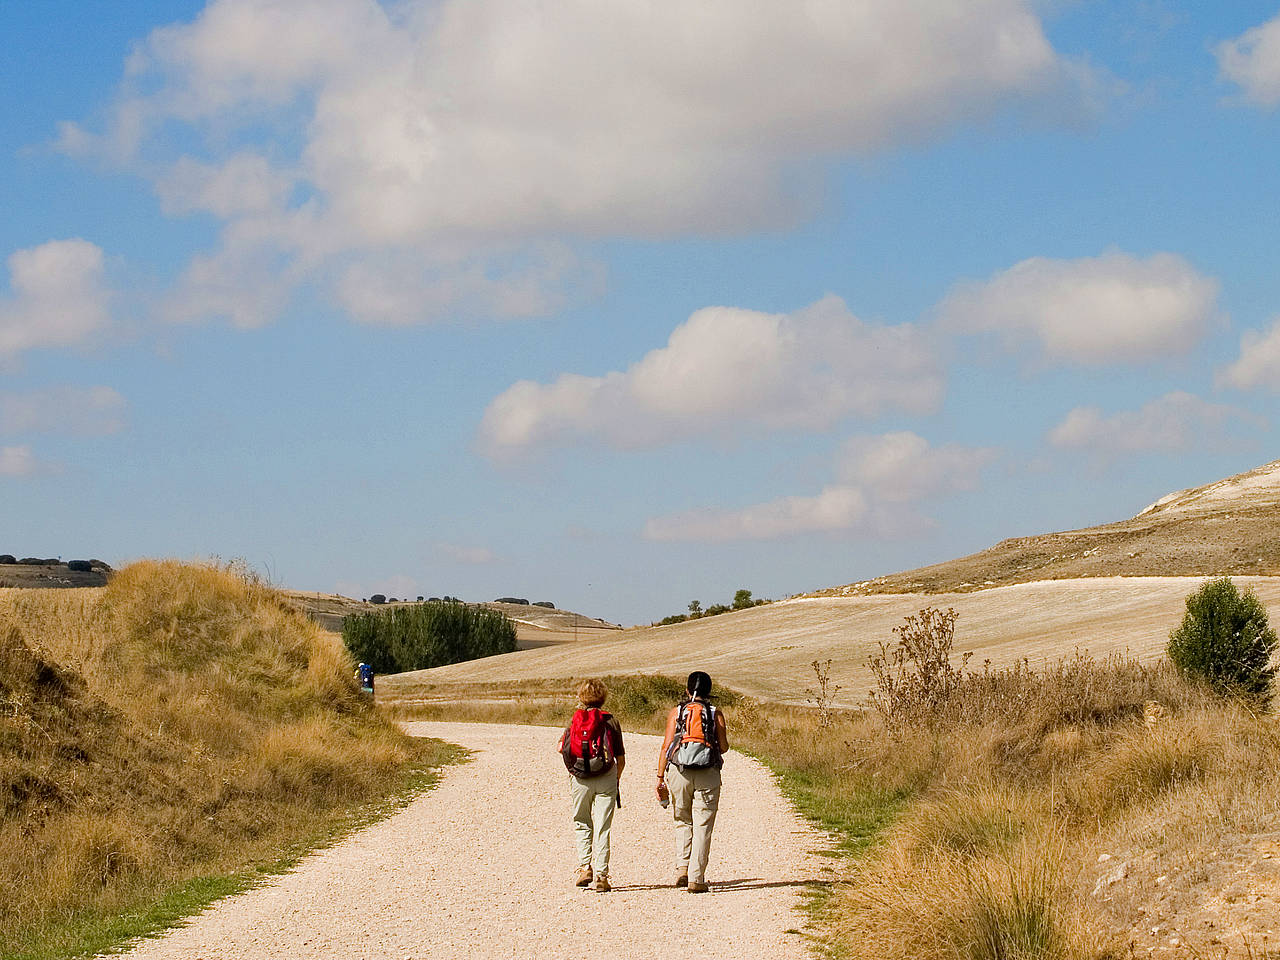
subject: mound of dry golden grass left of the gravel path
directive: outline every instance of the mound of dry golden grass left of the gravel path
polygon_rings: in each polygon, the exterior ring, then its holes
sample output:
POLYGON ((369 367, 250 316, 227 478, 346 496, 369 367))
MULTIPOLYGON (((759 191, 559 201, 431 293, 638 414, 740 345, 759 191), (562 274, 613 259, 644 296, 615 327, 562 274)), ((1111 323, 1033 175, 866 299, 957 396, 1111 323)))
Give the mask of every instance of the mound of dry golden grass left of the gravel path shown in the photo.
POLYGON ((8 594, 0 954, 274 859, 397 790, 431 749, 351 675, 335 637, 223 568, 8 594))

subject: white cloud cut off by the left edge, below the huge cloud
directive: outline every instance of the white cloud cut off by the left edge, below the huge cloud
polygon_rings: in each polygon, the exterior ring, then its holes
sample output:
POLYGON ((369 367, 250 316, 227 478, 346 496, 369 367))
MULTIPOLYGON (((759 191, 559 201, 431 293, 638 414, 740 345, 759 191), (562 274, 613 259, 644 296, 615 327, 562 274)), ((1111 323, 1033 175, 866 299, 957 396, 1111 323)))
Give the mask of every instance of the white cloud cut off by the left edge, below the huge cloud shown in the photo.
POLYGON ((109 320, 102 250, 83 239, 50 241, 9 256, 0 298, 0 361, 41 347, 70 347, 109 320))

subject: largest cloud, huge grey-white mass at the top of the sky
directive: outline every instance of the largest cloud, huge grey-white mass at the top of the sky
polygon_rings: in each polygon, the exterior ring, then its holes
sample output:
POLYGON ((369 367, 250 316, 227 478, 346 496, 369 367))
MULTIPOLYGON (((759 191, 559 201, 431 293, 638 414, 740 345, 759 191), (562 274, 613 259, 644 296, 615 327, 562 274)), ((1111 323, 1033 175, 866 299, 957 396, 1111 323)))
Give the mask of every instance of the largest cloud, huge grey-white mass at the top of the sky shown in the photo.
MULTIPOLYGON (((64 124, 61 143, 164 170, 166 210, 227 223, 209 259, 284 256, 291 284, 340 278, 357 317, 429 319, 419 296, 444 301, 436 315, 522 315, 566 278, 517 271, 552 289, 512 293, 506 274, 490 289, 494 244, 785 224, 837 156, 1079 99, 1084 72, 1034 8, 211 0, 140 44, 102 133, 64 124), (174 124, 198 155, 163 150, 174 124), (417 270, 369 275, 406 253, 417 270)), ((247 325, 280 308, 278 293, 234 301, 188 279, 198 314, 247 325)))

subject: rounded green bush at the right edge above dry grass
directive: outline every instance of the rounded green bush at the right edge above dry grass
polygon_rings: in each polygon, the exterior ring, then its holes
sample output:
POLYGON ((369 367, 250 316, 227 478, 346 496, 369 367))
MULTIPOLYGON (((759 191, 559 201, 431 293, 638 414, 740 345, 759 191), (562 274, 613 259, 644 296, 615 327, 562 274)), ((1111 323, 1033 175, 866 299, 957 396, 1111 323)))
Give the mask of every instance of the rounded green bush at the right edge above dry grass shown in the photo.
POLYGON ((1187 598, 1187 614, 1169 635, 1169 659, 1187 677, 1222 694, 1271 696, 1276 632, 1251 590, 1239 593, 1230 577, 1210 580, 1187 598))

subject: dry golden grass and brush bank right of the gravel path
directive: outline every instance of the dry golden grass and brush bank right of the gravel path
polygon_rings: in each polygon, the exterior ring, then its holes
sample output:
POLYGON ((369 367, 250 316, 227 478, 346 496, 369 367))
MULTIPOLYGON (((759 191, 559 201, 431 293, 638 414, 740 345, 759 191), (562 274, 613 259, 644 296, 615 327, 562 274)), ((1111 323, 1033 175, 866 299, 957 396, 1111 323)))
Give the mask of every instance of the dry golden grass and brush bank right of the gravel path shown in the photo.
MULTIPOLYGON (((1151 929, 1170 950, 1152 918, 1201 922, 1219 891, 1208 872, 1198 886, 1192 873, 1181 888, 1160 884, 1276 829, 1274 719, 1167 664, 1078 654, 988 669, 933 708, 849 745, 874 782, 914 785, 915 801, 831 908, 841 956, 1110 957, 1151 929), (1135 864, 1134 879, 1094 895, 1110 851, 1135 864)), ((1235 933, 1247 943, 1265 929, 1235 933)), ((1210 933, 1180 934, 1174 955, 1208 956, 1210 943, 1235 955, 1221 925, 1210 933)))

